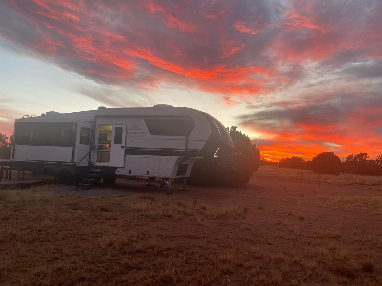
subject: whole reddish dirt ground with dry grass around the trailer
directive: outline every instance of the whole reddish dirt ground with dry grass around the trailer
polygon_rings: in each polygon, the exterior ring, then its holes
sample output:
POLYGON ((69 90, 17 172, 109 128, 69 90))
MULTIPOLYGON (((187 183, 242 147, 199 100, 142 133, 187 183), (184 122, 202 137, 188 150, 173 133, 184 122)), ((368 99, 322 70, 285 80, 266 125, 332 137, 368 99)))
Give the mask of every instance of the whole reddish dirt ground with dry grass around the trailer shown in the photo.
POLYGON ((59 187, 0 190, 1 285, 382 284, 378 177, 261 167, 244 187, 171 195, 124 178, 120 198, 59 187))

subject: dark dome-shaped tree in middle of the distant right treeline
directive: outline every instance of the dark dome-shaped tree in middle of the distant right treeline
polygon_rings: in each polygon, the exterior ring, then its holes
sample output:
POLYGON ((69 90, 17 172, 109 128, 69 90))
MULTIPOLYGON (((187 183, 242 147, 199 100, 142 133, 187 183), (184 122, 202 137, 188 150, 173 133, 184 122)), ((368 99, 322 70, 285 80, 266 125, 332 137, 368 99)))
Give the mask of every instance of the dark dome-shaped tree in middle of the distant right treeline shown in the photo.
POLYGON ((312 169, 318 174, 340 174, 342 162, 333 152, 322 152, 312 159, 312 169))

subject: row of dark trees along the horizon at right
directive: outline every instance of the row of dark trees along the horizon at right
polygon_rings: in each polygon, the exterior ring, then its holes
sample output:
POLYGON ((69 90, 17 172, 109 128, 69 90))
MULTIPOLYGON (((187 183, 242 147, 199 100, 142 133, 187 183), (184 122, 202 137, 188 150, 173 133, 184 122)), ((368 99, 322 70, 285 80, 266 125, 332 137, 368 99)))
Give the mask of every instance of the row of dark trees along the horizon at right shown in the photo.
POLYGON ((340 159, 333 152, 322 152, 305 161, 302 157, 292 156, 281 159, 278 167, 313 170, 317 174, 350 173, 358 175, 382 175, 382 154, 370 159, 367 153, 350 154, 346 160, 340 159))

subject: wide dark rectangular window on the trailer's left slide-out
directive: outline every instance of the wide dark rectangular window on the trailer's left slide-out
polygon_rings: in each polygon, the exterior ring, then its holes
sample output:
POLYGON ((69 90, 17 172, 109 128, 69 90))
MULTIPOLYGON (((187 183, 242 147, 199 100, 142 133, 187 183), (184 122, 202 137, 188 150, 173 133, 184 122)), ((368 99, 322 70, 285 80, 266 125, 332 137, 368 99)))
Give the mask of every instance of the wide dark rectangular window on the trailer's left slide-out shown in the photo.
POLYGON ((55 122, 18 123, 15 137, 17 145, 72 147, 74 124, 55 122))

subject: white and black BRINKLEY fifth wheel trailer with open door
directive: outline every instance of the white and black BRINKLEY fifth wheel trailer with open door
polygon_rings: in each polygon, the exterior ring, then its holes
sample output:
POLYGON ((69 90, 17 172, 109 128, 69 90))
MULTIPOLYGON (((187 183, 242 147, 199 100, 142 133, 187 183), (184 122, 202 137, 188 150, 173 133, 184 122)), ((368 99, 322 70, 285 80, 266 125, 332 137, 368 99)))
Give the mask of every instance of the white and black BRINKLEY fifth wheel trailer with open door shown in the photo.
POLYGON ((189 177, 197 160, 233 147, 214 117, 167 104, 24 116, 15 119, 14 134, 13 167, 83 186, 101 177, 115 182, 117 175, 171 182, 189 177))

